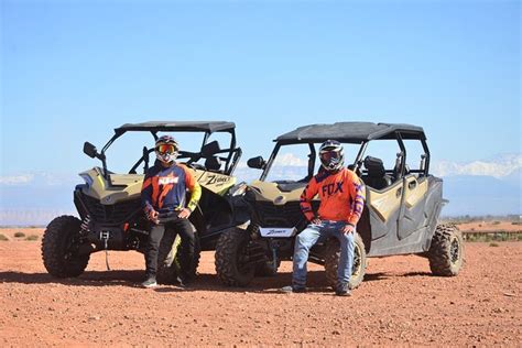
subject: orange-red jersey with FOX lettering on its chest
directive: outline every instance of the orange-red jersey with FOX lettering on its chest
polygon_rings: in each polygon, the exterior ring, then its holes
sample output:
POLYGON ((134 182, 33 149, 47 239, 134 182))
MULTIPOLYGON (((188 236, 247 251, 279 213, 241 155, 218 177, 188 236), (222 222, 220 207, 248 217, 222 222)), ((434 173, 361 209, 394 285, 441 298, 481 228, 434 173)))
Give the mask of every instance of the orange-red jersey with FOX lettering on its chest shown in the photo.
POLYGON ((306 219, 314 219, 312 199, 319 195, 318 218, 346 221, 356 226, 365 207, 365 184, 356 173, 342 168, 336 173, 319 172, 306 185, 301 195, 301 210, 306 219))

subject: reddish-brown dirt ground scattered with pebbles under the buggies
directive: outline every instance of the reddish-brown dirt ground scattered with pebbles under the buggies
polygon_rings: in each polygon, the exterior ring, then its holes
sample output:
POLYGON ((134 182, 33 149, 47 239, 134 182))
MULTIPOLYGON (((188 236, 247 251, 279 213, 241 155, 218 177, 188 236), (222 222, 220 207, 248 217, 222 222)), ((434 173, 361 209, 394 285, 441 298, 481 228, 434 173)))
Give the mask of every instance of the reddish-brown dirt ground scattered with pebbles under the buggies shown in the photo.
MULTIPOLYGON (((17 229, 15 231, 20 231, 17 229)), ((456 278, 436 278, 415 255, 370 259, 351 297, 309 267, 306 294, 282 294, 291 263, 246 289, 224 287, 205 252, 194 285, 135 286, 143 257, 91 257, 78 279, 51 278, 40 240, 0 241, 0 345, 8 346, 520 346, 522 242, 466 243, 456 278)), ((41 230, 24 230, 26 236, 41 230)))

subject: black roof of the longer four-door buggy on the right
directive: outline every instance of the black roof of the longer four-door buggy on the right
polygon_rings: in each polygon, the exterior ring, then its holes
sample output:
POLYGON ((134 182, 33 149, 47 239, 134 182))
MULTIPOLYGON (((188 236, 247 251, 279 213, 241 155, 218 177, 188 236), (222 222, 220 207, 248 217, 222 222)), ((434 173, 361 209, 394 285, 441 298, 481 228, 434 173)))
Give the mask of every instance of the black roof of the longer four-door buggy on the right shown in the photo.
POLYGON ((309 124, 300 127, 278 137, 280 143, 307 143, 337 140, 346 143, 359 143, 377 139, 395 139, 395 132, 402 139, 426 139, 422 127, 400 123, 336 122, 331 124, 309 124))

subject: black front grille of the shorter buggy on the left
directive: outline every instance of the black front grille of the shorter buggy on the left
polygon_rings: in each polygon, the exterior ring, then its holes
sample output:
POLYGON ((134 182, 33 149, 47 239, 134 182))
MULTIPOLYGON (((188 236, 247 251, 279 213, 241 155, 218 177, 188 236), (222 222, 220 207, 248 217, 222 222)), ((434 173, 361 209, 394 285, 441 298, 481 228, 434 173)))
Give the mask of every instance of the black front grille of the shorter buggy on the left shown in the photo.
POLYGON ((90 217, 101 224, 122 224, 141 209, 140 199, 104 205, 98 199, 81 193, 78 196, 90 217))

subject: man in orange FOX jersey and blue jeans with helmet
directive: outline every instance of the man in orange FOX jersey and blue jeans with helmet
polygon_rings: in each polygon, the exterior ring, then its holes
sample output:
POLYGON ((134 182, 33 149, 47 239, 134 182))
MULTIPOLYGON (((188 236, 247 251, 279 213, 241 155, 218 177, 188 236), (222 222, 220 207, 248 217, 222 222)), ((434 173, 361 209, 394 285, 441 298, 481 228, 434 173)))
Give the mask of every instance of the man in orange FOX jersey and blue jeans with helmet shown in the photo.
POLYGON ((309 225, 296 237, 292 286, 285 292, 306 292, 306 262, 309 249, 319 240, 335 237, 340 242, 336 295, 349 296, 354 263, 354 232, 365 207, 363 184, 344 167, 342 145, 327 140, 319 148, 320 170, 301 195, 301 209, 309 225), (318 194, 318 216, 312 210, 312 199, 318 194))

